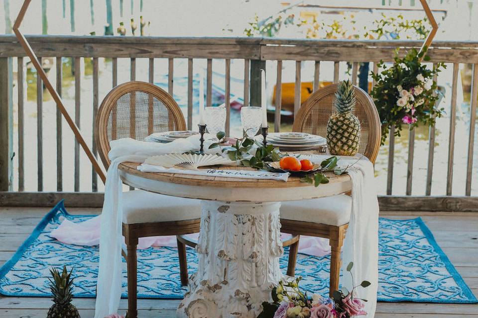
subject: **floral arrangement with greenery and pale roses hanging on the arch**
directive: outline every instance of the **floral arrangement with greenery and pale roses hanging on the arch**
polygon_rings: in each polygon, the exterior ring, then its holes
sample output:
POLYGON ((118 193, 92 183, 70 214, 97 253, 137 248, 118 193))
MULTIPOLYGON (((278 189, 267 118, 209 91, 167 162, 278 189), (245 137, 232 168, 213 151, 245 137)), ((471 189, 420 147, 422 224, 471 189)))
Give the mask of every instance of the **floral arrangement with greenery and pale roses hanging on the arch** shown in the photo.
POLYGON ((444 108, 435 105, 438 94, 433 76, 441 72, 441 68, 446 68, 446 65, 437 63, 432 70, 428 69, 421 63, 422 58, 423 61, 430 61, 425 53, 426 48, 420 53, 411 49, 400 58, 397 49, 392 66, 386 67, 380 61, 378 68, 384 70, 371 73, 375 86, 370 95, 382 124, 382 145, 393 125, 395 136, 400 136, 403 124, 409 125, 410 129, 419 123, 431 126, 435 124, 435 118, 443 114, 444 108))

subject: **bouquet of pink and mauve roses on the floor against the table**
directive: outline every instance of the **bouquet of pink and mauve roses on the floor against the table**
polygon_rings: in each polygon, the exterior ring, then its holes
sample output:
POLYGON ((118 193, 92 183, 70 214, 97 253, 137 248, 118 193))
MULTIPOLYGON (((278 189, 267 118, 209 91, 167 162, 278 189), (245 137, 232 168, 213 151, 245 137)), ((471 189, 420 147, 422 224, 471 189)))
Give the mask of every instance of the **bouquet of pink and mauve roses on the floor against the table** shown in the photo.
MULTIPOLYGON (((347 271, 350 272, 353 265, 350 262, 347 271)), ((317 294, 308 297, 307 292, 299 289, 301 279, 280 281, 272 289, 272 302, 262 303, 262 312, 257 318, 351 318, 367 314, 363 310, 366 300, 354 297, 354 290, 359 286, 370 286, 368 281, 362 281, 350 292, 343 288, 334 291, 332 298, 324 298, 317 294)))

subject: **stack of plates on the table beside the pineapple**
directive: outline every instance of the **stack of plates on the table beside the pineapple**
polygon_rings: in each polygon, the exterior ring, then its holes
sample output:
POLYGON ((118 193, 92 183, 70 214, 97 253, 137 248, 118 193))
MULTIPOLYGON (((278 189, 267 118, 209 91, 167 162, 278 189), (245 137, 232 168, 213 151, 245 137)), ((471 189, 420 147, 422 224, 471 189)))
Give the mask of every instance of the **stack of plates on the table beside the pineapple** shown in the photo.
POLYGON ((270 133, 267 135, 267 143, 282 151, 315 150, 327 145, 324 137, 307 133, 270 133))

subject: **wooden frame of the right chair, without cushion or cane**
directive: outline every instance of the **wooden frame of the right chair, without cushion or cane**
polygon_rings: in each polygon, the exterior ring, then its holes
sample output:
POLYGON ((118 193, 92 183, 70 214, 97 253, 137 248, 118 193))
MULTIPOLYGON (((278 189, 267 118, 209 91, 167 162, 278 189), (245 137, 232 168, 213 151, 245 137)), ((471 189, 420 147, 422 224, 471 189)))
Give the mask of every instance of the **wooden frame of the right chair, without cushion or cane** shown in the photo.
MULTIPOLYGON (((307 114, 313 109, 313 107, 320 103, 324 97, 330 94, 335 94, 338 85, 339 84, 328 85, 313 93, 299 109, 297 117, 294 120, 292 131, 301 132, 302 124, 307 118, 307 114)), ((370 96, 358 86, 354 85, 354 87, 356 98, 358 102, 364 106, 364 111, 368 119, 368 141, 363 155, 372 163, 374 163, 380 148, 380 119, 378 117, 375 104, 370 96)), ((332 293, 339 289, 339 274, 342 265, 340 253, 349 224, 347 223, 341 226, 333 226, 313 222, 287 220, 282 218, 280 219, 280 223, 282 226, 280 231, 283 233, 329 239, 329 244, 331 246, 329 294, 332 297, 332 293)), ((297 241, 290 246, 289 262, 287 267, 287 275, 289 276, 294 276, 298 244, 299 242, 297 241)))

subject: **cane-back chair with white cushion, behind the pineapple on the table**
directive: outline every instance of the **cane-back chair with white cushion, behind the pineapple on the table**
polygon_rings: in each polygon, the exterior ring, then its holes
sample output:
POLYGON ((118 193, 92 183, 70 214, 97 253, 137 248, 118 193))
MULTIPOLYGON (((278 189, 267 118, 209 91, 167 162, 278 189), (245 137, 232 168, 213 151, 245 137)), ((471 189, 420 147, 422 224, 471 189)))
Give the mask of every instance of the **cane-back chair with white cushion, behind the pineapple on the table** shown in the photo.
MULTIPOLYGON (((299 109, 292 130, 326 136, 327 122, 335 111, 334 100, 338 84, 314 92, 299 109)), ((359 153, 372 163, 380 147, 380 119, 370 96, 357 86, 355 115, 361 126, 359 153)), ((328 198, 282 202, 281 232, 329 239, 331 246, 330 295, 339 288, 340 252, 349 226, 352 198, 346 194, 328 198)), ((294 274, 298 242, 290 246, 287 273, 294 274)))

